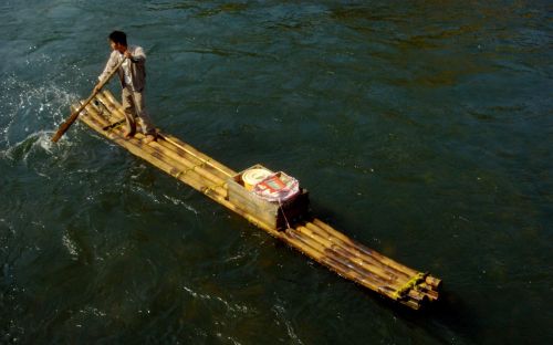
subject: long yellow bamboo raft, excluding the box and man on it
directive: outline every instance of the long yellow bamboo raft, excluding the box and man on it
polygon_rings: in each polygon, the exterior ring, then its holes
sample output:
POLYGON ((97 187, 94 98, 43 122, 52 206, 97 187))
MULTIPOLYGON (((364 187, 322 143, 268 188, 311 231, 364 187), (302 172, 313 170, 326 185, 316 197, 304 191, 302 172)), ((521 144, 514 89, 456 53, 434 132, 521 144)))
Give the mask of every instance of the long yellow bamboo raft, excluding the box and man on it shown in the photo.
MULTIPOLYGON (((81 104, 72 105, 73 111, 83 104, 81 101, 81 104)), ((108 91, 98 93, 86 105, 80 119, 133 155, 242 216, 343 278, 414 310, 439 297, 441 280, 368 249, 315 217, 298 217, 291 224, 286 220, 286 226, 279 229, 278 224, 255 213, 252 208, 237 202, 243 199, 229 198, 229 191, 232 191, 229 185, 237 181, 237 171, 178 138, 158 132, 157 142, 147 145, 142 142, 142 134, 125 139, 123 108, 108 91)))

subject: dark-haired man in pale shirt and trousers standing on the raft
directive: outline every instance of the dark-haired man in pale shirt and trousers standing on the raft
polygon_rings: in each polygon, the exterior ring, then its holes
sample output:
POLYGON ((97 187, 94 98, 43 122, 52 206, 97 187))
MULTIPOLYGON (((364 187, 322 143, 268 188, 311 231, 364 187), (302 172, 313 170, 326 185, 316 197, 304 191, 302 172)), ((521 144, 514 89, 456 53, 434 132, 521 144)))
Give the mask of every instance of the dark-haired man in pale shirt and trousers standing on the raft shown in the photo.
POLYGON ((117 71, 123 87, 122 103, 125 111, 127 128, 125 138, 129 139, 136 134, 136 122, 140 125, 142 132, 146 136, 145 144, 156 140, 156 128, 152 124, 146 105, 144 103, 144 86, 146 84, 146 54, 140 46, 127 45, 127 35, 122 31, 114 31, 109 34, 109 46, 112 54, 107 60, 104 72, 98 76, 98 84, 94 91, 98 91, 100 84, 107 77, 109 71, 117 66, 121 60, 125 59, 117 71))

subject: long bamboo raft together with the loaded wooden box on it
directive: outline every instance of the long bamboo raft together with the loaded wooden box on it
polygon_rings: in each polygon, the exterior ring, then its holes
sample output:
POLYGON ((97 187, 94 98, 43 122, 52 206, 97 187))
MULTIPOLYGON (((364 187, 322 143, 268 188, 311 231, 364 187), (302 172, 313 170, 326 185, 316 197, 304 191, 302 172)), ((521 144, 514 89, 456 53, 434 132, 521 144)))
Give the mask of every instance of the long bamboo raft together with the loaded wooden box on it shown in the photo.
MULTIPOLYGON (((295 178, 262 165, 237 172, 160 130, 157 142, 147 145, 142 134, 125 139, 121 104, 108 91, 92 101, 79 117, 92 129, 341 276, 414 310, 439 299, 441 280, 368 249, 313 217, 309 192, 295 178)), ((72 105, 72 111, 85 103, 72 105)))

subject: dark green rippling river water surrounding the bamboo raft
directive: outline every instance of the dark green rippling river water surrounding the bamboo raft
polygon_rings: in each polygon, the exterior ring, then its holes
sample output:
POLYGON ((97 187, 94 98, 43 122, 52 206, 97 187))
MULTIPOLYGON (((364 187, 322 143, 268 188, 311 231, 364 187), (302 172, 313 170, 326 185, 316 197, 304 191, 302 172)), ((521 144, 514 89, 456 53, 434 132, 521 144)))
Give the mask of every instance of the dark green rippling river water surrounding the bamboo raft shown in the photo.
POLYGON ((553 344, 552 48, 551 1, 0 1, 0 343, 553 344), (52 144, 115 29, 159 128, 296 177, 441 303, 389 303, 82 124, 52 144))

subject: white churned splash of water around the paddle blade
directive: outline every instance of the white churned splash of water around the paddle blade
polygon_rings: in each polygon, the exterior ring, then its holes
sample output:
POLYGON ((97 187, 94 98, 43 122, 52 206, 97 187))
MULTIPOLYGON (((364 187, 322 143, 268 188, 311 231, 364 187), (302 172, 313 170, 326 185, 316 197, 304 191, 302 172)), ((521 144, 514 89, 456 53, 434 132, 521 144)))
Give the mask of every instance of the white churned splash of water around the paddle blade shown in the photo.
MULTIPOLYGON (((41 70, 40 64, 49 60, 41 58, 33 62, 38 64, 33 69, 41 70)), ((23 73, 13 72, 0 80, 0 159, 10 165, 23 164, 39 176, 50 178, 52 161, 67 157, 74 145, 71 135, 55 144, 51 137, 69 116, 70 104, 79 97, 69 91, 71 86, 64 85, 65 82, 55 81, 58 74, 49 75, 55 71, 46 73, 38 83, 25 79, 23 73)))

